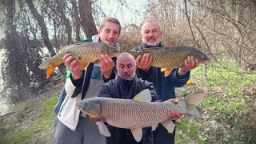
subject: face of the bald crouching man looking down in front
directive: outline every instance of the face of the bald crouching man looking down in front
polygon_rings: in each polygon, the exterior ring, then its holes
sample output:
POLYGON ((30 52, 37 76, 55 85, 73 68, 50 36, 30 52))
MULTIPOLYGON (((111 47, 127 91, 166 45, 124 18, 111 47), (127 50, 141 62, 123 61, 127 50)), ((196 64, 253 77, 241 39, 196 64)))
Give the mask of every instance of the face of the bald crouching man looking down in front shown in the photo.
POLYGON ((118 76, 130 80, 135 76, 136 64, 131 56, 122 56, 117 62, 118 76))

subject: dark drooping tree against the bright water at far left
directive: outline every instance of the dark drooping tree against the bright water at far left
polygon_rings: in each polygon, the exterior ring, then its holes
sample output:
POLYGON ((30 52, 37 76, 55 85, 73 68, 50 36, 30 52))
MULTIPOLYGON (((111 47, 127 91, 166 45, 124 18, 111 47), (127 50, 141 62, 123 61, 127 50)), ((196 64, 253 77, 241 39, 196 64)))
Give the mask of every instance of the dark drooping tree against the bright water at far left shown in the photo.
POLYGON ((30 21, 27 20, 22 2, 16 9, 15 1, 6 1, 6 13, 6 58, 2 62, 5 85, 2 93, 16 101, 34 96, 38 87, 42 86, 42 72, 36 67, 42 59, 39 54, 42 47, 36 39, 30 38, 30 21), (20 19, 22 25, 18 26, 15 19, 20 19))

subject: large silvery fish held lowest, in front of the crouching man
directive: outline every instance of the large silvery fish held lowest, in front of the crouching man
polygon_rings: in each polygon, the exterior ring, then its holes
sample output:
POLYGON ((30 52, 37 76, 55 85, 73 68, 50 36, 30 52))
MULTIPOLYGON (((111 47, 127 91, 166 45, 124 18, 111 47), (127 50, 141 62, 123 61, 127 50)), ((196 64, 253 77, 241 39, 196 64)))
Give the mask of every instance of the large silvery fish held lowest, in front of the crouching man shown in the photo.
MULTIPOLYGON (((158 123, 162 123, 169 133, 174 131, 175 125, 167 116, 170 110, 180 110, 183 114, 200 118, 195 106, 198 106, 202 99, 203 94, 194 94, 179 99, 178 104, 170 101, 151 102, 150 90, 146 89, 133 99, 94 97, 82 99, 77 102, 77 106, 91 118, 106 118, 106 122, 111 126, 130 129, 134 139, 140 142, 143 127, 152 126, 152 130, 155 130, 158 123)), ((97 124, 101 134, 111 136, 102 120, 97 124)))

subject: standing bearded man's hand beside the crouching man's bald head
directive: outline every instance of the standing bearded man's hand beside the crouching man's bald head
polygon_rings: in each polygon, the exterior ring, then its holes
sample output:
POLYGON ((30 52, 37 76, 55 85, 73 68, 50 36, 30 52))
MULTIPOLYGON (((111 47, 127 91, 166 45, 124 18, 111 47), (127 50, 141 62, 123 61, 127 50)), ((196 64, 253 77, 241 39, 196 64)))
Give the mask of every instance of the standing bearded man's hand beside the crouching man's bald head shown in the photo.
POLYGON ((136 66, 139 69, 142 69, 146 72, 148 72, 150 70, 151 64, 152 64, 152 56, 149 53, 145 53, 142 55, 139 55, 136 58, 136 66))

